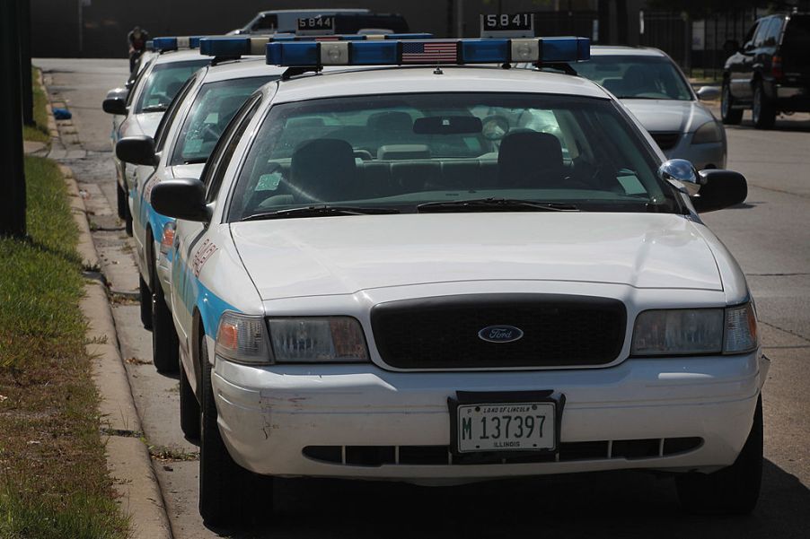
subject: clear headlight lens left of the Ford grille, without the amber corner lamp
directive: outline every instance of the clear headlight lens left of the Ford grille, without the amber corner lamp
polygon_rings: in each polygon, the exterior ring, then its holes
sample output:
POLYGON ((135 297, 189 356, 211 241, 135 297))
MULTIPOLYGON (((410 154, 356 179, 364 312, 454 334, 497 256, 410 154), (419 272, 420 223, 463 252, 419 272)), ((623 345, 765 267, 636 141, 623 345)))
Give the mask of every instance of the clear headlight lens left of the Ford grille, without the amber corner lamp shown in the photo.
POLYGON ((368 361, 363 328, 352 317, 269 318, 279 363, 368 361))

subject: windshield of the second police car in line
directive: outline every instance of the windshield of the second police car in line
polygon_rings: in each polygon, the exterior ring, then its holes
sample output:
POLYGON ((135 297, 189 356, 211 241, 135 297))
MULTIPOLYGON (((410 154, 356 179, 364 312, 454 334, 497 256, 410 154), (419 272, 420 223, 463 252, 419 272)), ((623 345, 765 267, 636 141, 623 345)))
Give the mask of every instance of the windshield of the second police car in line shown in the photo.
POLYGON ((203 84, 180 130, 172 153, 172 165, 206 162, 242 103, 262 84, 277 78, 250 77, 203 84))

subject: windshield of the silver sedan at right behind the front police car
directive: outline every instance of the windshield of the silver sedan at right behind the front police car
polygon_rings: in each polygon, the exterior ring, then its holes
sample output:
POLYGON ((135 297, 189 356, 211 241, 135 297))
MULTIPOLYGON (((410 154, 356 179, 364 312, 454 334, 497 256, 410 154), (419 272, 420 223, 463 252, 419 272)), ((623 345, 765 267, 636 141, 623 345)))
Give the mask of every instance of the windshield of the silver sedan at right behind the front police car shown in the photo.
POLYGON ((619 99, 692 99, 688 83, 666 57, 591 56, 576 69, 619 99))

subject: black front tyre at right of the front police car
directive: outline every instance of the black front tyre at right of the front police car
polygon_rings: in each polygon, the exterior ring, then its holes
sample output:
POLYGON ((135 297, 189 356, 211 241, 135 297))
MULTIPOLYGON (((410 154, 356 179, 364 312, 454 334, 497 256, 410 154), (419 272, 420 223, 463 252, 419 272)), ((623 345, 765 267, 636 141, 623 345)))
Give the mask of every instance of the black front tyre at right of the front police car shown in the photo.
POLYGON ((682 508, 691 513, 747 515, 753 511, 762 485, 762 396, 735 463, 713 474, 679 475, 675 485, 682 508))

